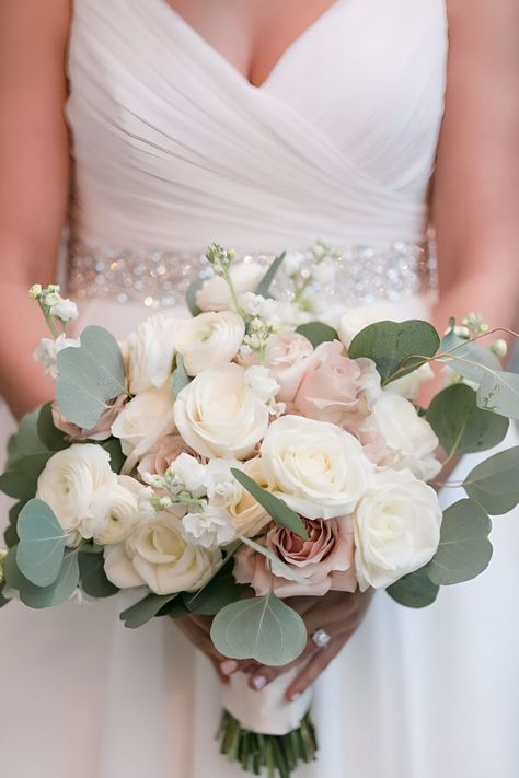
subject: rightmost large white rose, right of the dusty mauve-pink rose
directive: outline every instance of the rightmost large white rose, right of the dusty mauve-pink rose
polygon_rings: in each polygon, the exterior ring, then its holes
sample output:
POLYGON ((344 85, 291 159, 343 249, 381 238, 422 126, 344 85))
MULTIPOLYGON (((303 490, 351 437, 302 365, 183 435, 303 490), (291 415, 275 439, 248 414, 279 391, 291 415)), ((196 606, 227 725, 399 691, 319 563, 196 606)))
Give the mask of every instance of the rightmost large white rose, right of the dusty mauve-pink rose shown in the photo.
POLYGON ((411 471, 378 473, 354 514, 361 591, 389 587, 434 557, 441 509, 436 491, 411 471))

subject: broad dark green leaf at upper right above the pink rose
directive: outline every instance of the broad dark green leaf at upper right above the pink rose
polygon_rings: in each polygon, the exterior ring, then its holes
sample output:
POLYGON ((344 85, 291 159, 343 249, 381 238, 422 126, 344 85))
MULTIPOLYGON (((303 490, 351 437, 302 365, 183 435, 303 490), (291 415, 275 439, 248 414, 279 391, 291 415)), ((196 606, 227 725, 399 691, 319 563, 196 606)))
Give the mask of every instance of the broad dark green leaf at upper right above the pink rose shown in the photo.
POLYGON ((382 383, 388 384, 424 364, 439 345, 439 335, 428 322, 377 322, 355 336, 348 353, 351 359, 372 359, 382 383))

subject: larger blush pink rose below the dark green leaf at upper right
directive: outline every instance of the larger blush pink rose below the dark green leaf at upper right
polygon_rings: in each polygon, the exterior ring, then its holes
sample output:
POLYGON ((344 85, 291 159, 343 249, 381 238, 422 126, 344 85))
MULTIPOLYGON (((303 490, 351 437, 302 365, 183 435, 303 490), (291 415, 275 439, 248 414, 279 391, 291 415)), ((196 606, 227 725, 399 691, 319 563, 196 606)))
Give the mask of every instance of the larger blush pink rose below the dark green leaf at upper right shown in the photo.
POLYGON ((293 398, 292 410, 342 425, 361 419, 379 396, 380 376, 370 359, 349 359, 338 341, 318 346, 293 398))

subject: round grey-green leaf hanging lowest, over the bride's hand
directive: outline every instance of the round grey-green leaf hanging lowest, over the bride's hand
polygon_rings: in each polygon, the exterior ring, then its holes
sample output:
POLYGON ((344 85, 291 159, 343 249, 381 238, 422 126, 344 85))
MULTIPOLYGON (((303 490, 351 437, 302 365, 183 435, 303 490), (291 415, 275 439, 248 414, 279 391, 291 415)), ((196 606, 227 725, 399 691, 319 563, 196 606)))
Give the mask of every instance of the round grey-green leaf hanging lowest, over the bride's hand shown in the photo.
POLYGON ((270 592, 227 605, 212 620, 211 639, 223 657, 276 667, 303 652, 307 628, 301 616, 270 592))

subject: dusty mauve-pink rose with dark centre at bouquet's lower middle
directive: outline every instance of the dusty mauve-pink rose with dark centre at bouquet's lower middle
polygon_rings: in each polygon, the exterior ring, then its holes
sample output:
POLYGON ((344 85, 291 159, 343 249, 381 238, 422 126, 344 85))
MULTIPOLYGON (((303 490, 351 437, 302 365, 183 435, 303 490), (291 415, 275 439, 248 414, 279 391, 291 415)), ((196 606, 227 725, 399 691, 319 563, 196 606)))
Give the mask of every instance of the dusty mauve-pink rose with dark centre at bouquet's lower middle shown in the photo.
POLYGON ((349 516, 304 520, 308 541, 276 526, 261 541, 281 561, 305 579, 297 583, 270 571, 270 562, 258 551, 243 548, 237 556, 234 578, 250 583, 257 595, 274 589, 279 597, 322 596, 330 590, 355 592, 354 531, 349 516))

